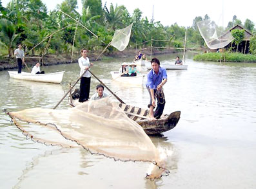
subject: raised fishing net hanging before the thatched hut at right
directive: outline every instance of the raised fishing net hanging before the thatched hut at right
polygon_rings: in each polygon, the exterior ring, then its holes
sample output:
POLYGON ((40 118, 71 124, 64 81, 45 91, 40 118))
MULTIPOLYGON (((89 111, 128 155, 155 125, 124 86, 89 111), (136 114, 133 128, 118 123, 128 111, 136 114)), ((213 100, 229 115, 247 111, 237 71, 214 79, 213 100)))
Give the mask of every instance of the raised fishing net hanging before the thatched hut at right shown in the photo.
POLYGON ((222 31, 214 21, 197 22, 202 38, 210 49, 218 49, 227 46, 234 38, 231 32, 222 31))

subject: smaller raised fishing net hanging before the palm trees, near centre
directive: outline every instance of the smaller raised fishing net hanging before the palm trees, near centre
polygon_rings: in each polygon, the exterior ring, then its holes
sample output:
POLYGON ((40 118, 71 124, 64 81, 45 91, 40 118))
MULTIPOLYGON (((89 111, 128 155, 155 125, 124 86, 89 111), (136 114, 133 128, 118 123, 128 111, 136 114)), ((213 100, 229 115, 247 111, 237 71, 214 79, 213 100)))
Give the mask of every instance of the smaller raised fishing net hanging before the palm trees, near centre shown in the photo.
POLYGON ((132 24, 121 30, 115 30, 111 45, 119 49, 119 51, 123 51, 130 41, 131 30, 132 24))

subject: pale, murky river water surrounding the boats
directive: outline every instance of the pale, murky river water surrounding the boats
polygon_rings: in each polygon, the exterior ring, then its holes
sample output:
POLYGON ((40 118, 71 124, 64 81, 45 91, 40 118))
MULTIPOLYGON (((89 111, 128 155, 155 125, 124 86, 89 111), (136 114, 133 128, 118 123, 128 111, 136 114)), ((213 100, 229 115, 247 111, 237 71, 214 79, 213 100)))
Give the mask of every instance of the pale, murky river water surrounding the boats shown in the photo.
MULTIPOLYGON (((157 56, 174 62, 177 54, 157 56)), ((181 56, 182 57, 182 56, 181 56)), ((92 71, 126 103, 146 107, 144 87, 112 82, 110 71, 122 61, 94 62, 92 71)), ((256 188, 256 64, 195 62, 188 70, 167 71, 164 113, 181 111, 177 126, 151 137, 172 150, 170 175, 144 178, 150 163, 113 161, 83 149, 52 147, 27 140, 0 113, 0 188, 256 188)), ((41 67, 65 71, 63 82, 43 84, 13 80, 0 72, 1 109, 18 111, 54 107, 78 78, 77 64, 41 67)), ((91 94, 98 82, 92 78, 91 94)), ((67 109, 65 99, 58 109, 67 109)))

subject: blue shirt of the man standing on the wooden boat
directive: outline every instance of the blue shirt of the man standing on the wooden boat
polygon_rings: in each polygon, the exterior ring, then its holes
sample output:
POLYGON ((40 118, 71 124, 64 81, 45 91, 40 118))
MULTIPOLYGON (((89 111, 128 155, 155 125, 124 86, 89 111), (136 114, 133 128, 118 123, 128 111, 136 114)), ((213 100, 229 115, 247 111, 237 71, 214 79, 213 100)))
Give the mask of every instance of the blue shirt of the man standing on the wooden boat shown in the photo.
POLYGON ((156 74, 155 71, 151 69, 147 76, 148 80, 146 82, 146 87, 149 87, 150 89, 157 89, 157 85, 161 84, 163 79, 167 79, 166 69, 159 66, 158 74, 156 74))

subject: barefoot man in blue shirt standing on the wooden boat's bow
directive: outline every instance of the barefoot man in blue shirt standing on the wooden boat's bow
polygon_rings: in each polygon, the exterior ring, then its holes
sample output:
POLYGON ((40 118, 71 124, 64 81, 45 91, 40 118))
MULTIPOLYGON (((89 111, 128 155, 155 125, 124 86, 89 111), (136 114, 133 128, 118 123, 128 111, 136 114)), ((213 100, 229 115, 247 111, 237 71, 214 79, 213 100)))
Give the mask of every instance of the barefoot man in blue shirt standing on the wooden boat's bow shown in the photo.
POLYGON ((164 111, 165 98, 162 86, 167 82, 166 69, 160 66, 160 61, 157 58, 151 60, 152 69, 148 72, 148 80, 146 82, 146 88, 150 94, 150 119, 155 120, 161 118, 162 112, 164 111), (157 98, 157 108, 155 113, 155 98, 157 98))

